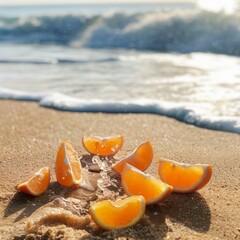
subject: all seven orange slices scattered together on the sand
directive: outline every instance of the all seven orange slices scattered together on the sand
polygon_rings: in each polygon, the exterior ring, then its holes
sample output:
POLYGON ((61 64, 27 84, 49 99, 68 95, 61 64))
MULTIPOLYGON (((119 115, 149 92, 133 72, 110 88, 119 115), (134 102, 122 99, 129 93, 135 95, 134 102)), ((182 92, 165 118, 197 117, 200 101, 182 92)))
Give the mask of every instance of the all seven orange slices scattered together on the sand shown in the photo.
MULTIPOLYGON (((124 138, 83 137, 84 148, 91 155, 105 157, 116 155, 122 148, 124 138)), ((89 209, 92 220, 104 230, 120 229, 136 224, 144 215, 146 205, 159 204, 172 192, 189 193, 204 187, 212 176, 210 164, 186 164, 159 158, 157 172, 159 178, 144 171, 153 161, 154 149, 150 141, 139 145, 129 156, 112 165, 121 179, 127 195, 112 202, 95 202, 89 209)), ((59 144, 55 173, 59 184, 64 187, 80 187, 82 166, 74 147, 69 141, 59 144)), ((45 192, 50 183, 50 169, 41 168, 33 176, 22 182, 18 190, 33 196, 45 192)))

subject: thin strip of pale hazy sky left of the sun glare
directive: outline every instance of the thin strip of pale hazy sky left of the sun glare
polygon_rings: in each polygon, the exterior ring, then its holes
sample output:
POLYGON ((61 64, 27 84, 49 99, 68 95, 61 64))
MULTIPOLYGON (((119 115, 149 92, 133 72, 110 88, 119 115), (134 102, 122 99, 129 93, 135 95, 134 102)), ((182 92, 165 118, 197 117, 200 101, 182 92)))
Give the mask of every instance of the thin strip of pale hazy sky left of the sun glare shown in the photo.
POLYGON ((0 5, 70 3, 195 2, 195 0, 0 0, 0 5))

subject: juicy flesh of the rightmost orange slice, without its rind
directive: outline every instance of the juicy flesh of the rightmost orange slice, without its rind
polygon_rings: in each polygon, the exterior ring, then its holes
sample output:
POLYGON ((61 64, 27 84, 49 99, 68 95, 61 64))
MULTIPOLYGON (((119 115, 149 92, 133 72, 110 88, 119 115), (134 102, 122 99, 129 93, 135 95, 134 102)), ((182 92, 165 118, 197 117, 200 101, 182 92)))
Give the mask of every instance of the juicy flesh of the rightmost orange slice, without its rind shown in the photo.
POLYGON ((188 188, 202 178, 204 170, 200 166, 178 166, 170 162, 161 163, 162 180, 173 187, 188 188))

